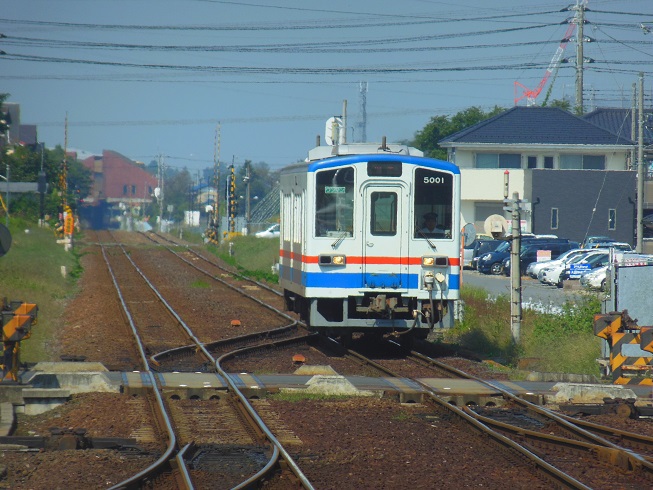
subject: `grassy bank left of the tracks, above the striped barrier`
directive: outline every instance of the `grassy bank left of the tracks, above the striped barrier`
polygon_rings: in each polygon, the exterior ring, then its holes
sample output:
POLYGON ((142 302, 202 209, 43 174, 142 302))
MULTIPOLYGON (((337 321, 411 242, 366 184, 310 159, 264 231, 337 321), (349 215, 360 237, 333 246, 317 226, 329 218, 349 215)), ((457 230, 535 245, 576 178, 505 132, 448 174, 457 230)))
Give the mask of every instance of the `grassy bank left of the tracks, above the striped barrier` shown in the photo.
POLYGON ((21 342, 20 359, 50 360, 50 346, 64 325, 66 301, 77 293, 81 256, 74 248, 66 252, 51 229, 36 223, 12 217, 9 231, 11 248, 0 257, 0 292, 8 300, 35 303, 39 308, 31 337, 21 342))

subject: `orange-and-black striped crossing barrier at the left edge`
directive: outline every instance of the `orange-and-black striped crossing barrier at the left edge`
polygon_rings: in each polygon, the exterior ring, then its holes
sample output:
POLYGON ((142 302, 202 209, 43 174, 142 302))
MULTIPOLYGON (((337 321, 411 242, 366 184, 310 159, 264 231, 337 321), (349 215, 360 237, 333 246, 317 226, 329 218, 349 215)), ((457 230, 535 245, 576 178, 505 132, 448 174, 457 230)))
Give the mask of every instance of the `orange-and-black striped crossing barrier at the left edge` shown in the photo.
POLYGON ((36 325, 38 306, 23 301, 2 303, 2 380, 18 381, 20 362, 20 342, 32 335, 32 326, 36 325))

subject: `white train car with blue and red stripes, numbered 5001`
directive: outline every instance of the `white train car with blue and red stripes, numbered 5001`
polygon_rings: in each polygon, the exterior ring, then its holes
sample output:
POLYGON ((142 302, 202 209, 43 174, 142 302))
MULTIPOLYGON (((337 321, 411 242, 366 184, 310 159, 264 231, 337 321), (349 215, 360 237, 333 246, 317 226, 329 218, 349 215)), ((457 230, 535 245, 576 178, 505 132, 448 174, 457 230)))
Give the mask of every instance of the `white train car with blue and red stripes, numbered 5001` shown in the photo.
POLYGON ((289 311, 343 336, 424 338, 453 324, 456 165, 385 141, 318 146, 282 169, 280 184, 279 277, 289 311))

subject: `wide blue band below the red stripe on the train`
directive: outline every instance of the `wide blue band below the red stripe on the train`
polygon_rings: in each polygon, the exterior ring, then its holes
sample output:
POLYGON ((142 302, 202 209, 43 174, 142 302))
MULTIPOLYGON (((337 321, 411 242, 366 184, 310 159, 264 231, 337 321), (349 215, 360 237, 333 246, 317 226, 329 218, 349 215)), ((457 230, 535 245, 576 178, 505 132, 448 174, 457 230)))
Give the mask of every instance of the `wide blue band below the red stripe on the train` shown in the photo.
MULTIPOLYGON (((280 266, 279 273, 286 277, 285 272, 289 272, 287 268, 280 266)), ((292 271, 295 274, 298 271, 292 271)), ((395 274, 365 274, 363 282, 361 276, 357 273, 335 273, 335 272, 303 272, 302 280, 300 281, 304 287, 307 288, 333 288, 333 289, 355 289, 361 287, 375 287, 375 288, 407 288, 417 289, 419 285, 419 274, 402 274, 401 286, 399 285, 399 278, 395 274), (406 281, 406 278, 408 280, 406 281)), ((460 289, 460 275, 449 275, 449 289, 460 289)))

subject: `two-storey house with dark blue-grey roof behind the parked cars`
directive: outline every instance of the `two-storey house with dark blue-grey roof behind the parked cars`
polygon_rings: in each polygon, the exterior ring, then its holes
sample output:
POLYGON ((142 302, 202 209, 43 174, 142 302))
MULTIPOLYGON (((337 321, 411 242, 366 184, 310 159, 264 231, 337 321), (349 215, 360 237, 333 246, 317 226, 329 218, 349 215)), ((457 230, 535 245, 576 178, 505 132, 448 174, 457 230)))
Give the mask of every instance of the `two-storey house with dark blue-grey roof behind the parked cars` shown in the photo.
POLYGON ((517 192, 531 203, 522 213, 523 232, 576 241, 605 235, 634 244, 636 143, 630 131, 594 123, 604 116, 513 107, 441 140, 461 170, 463 223, 482 232, 488 217, 508 217, 507 174, 508 196, 517 192))

